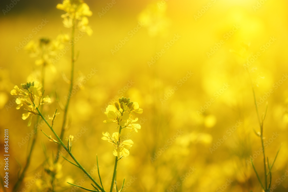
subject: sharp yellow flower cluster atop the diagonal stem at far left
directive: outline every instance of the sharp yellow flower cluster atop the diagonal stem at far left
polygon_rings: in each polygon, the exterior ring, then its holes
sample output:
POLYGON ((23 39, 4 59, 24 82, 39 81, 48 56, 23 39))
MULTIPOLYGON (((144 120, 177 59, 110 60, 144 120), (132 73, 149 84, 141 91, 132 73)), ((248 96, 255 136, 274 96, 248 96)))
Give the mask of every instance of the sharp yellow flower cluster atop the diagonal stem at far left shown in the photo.
POLYGON ((16 98, 16 103, 18 104, 16 109, 20 109, 24 104, 28 105, 28 109, 24 109, 28 113, 23 113, 22 119, 25 120, 32 114, 28 123, 28 126, 30 126, 32 117, 38 115, 37 108, 42 104, 51 103, 51 99, 49 96, 43 97, 43 93, 41 92, 42 85, 38 81, 23 83, 21 86, 23 90, 15 85, 10 94, 19 96, 16 98))

